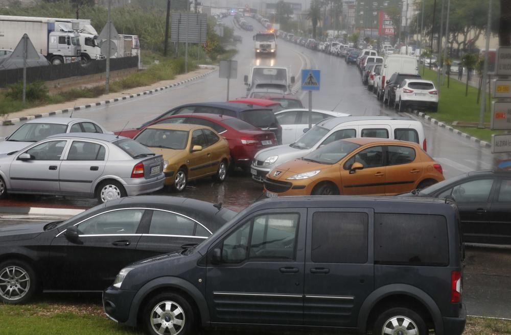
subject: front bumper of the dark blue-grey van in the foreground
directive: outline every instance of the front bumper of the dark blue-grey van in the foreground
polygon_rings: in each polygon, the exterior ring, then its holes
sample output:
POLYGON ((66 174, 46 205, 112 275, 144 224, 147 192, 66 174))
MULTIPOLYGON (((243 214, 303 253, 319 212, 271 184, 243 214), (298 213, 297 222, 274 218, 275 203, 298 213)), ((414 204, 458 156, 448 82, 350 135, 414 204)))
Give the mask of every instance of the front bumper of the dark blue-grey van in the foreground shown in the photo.
POLYGON ((110 286, 103 292, 103 310, 106 316, 112 321, 136 325, 136 320, 129 320, 131 302, 136 291, 120 290, 110 286))

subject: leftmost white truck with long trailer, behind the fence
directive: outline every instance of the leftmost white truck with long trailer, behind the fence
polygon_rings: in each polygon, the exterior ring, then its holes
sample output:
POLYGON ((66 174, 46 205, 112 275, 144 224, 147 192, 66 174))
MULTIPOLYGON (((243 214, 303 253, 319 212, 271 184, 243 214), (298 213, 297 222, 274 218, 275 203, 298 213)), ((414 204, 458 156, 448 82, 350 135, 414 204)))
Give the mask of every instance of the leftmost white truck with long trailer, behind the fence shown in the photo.
POLYGON ((49 18, 0 15, 0 49, 14 49, 27 34, 52 65, 80 61, 80 35, 49 18))

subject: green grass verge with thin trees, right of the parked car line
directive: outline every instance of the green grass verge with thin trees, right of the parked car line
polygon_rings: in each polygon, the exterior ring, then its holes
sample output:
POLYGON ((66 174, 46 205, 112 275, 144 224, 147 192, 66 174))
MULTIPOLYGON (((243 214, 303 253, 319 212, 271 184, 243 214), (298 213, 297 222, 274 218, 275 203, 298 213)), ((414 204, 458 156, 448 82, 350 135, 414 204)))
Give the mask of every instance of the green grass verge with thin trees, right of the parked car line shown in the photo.
MULTIPOLYGON (((424 67, 421 66, 420 74, 423 76, 423 79, 431 80, 436 83, 436 71, 426 68, 424 75, 423 71, 424 67)), ((469 84, 468 95, 465 96, 466 83, 458 81, 455 77, 456 75, 454 75, 454 78, 451 76, 449 88, 447 88, 447 78, 445 79, 444 85, 440 87, 438 112, 427 112, 426 114, 449 125, 454 121, 479 122, 480 105, 477 103, 477 88, 470 86, 469 84)), ((486 110, 486 113, 484 114, 484 122, 490 122, 490 117, 491 111, 486 110)), ((502 131, 492 131, 489 128, 479 129, 477 127, 454 127, 464 133, 488 142, 492 140, 492 134, 504 133, 502 131)))

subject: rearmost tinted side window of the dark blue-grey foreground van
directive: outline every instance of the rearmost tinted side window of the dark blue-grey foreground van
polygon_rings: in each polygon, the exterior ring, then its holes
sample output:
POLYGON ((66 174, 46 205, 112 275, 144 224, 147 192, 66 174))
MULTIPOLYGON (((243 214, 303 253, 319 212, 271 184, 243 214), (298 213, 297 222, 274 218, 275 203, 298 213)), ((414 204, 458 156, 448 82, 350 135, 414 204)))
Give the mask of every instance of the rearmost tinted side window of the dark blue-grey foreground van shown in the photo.
POLYGON ((375 264, 448 265, 446 218, 375 213, 375 264))

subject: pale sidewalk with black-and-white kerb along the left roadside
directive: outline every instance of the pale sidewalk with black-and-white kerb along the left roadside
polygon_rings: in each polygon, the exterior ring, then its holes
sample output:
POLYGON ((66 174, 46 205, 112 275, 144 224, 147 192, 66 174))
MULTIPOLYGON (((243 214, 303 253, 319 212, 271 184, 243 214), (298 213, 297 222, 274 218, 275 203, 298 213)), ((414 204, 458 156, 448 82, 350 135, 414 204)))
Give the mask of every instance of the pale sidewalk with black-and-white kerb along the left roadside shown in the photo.
POLYGON ((135 87, 135 88, 132 88, 129 90, 125 90, 123 92, 103 94, 103 95, 97 96, 95 98, 80 98, 80 99, 76 99, 73 101, 63 102, 62 104, 45 105, 45 106, 40 106, 40 107, 29 108, 26 110, 22 110, 19 112, 9 114, 7 119, 18 119, 18 118, 28 117, 28 116, 32 116, 32 115, 49 113, 52 111, 73 109, 77 106, 96 104, 96 102, 98 102, 98 101, 107 101, 110 99, 121 98, 126 95, 129 96, 129 95, 137 94, 140 92, 154 90, 154 89, 157 89, 160 87, 177 84, 182 81, 190 80, 190 79, 197 77, 199 75, 202 75, 202 76, 206 75, 213 71, 215 71, 215 70, 214 69, 197 69, 195 71, 191 71, 191 72, 188 72, 185 74, 178 74, 178 75, 176 75, 176 78, 173 80, 165 80, 165 81, 154 83, 149 86, 135 87))

